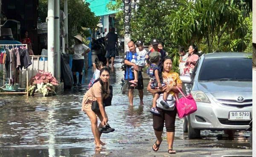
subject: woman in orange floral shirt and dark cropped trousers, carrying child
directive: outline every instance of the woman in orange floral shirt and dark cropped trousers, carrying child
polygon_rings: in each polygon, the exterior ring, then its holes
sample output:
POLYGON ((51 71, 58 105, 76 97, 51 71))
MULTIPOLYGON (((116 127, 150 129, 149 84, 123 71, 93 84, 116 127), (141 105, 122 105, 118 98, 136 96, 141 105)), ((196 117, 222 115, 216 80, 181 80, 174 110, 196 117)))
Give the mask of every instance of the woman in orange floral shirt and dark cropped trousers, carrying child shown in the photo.
MULTIPOLYGON (((153 94, 166 92, 173 96, 175 93, 179 92, 176 87, 182 87, 182 82, 180 80, 179 74, 172 71, 172 59, 169 56, 163 59, 163 82, 166 84, 166 86, 160 87, 159 89, 152 89, 151 82, 149 82, 147 90, 153 94)), ((163 126, 165 125, 167 132, 166 135, 168 142, 168 153, 175 154, 176 151, 173 150, 172 146, 175 135, 175 117, 177 114, 177 109, 174 108, 174 110, 164 110, 157 107, 157 110, 160 114, 153 114, 153 128, 157 140, 156 142, 154 142, 152 149, 154 151, 159 150, 160 144, 163 140, 163 126)))

